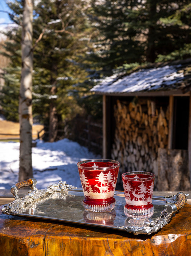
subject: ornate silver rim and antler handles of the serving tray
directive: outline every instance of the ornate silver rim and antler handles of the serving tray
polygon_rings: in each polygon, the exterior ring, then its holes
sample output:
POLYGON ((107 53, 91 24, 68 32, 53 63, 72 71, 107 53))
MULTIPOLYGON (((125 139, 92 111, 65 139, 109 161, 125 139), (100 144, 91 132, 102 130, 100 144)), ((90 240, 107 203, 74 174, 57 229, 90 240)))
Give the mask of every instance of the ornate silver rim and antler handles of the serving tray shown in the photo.
MULTIPOLYGON (((32 179, 35 181, 35 179, 32 179)), ((133 220, 133 219, 127 219, 126 225, 121 226, 109 226, 109 225, 101 225, 101 224, 92 224, 92 223, 85 223, 85 222, 79 222, 79 221, 71 221, 67 219, 55 219, 47 216, 40 216, 40 215, 30 215, 30 214, 20 214, 19 210, 23 207, 27 207, 31 205, 32 203, 35 203, 40 198, 52 195, 55 192, 63 192, 63 191, 74 191, 74 192, 80 192, 83 193, 83 190, 81 188, 76 188, 72 185, 68 185, 66 181, 59 181, 56 184, 52 184, 48 186, 45 189, 38 190, 35 187, 36 181, 31 186, 32 190, 28 191, 28 194, 25 195, 23 198, 20 198, 17 194, 18 190, 17 187, 14 185, 11 189, 17 190, 11 192, 14 194, 15 200, 7 205, 4 205, 2 208, 2 211, 4 214, 9 215, 16 215, 16 216, 22 216, 22 217, 31 217, 31 218, 38 218, 38 219, 44 219, 44 220, 53 220, 53 221, 61 221, 64 223, 73 223, 73 224, 80 224, 80 225, 89 225, 89 226, 96 226, 96 227, 102 227, 102 228, 109 228, 114 230, 124 230, 129 233, 133 233, 135 235, 138 234, 151 234, 156 233, 159 229, 162 229, 166 224, 168 224, 172 217, 175 216, 178 210, 182 208, 187 200, 188 194, 185 194, 183 192, 177 193, 177 195, 162 197, 162 196, 153 196, 153 200, 157 202, 161 202, 159 204, 163 204, 164 210, 161 212, 161 214, 157 217, 156 220, 153 220, 152 217, 149 219, 144 220, 133 220), (183 196, 183 199, 185 199, 183 202, 178 202, 178 196, 183 196), (178 205, 178 207, 177 207, 178 205)), ((124 197, 124 192, 116 191, 115 192, 115 198, 118 197, 124 197)), ((97 213, 95 213, 97 214, 97 213)))

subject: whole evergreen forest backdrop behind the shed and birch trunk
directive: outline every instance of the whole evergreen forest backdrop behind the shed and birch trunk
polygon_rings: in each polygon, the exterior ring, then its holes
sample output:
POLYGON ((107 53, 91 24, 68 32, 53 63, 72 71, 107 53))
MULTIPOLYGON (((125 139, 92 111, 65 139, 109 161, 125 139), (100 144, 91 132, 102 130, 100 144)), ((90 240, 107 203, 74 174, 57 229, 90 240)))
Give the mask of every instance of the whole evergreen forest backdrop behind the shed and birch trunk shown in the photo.
MULTIPOLYGON (((1 113, 18 121, 23 1, 7 1, 13 22, 4 30, 7 58, 1 113)), ((189 0, 35 0, 33 119, 49 142, 77 140, 76 120, 102 118, 102 98, 90 89, 113 73, 191 57, 189 0)), ((79 122, 78 122, 79 123, 79 122)))

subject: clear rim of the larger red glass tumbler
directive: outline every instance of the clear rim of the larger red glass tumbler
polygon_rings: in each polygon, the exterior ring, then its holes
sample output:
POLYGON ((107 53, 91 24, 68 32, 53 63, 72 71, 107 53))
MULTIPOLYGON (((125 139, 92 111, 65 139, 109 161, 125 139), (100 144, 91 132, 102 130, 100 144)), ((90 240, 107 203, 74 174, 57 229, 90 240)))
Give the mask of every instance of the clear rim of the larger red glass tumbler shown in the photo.
POLYGON ((90 159, 90 160, 84 160, 77 163, 77 167, 83 170, 89 170, 89 171, 99 171, 99 170, 111 170, 118 168, 120 166, 120 163, 116 160, 111 159, 90 159), (109 162, 109 163, 115 163, 115 166, 108 166, 108 167, 89 167, 89 166, 81 166, 82 163, 90 163, 90 162, 109 162))

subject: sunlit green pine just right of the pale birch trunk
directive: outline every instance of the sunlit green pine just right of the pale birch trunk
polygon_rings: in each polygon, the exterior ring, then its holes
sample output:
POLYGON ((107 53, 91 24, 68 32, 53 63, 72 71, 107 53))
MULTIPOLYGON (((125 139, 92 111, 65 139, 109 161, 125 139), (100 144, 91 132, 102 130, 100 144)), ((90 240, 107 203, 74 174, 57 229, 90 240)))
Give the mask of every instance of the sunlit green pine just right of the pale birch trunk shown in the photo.
MULTIPOLYGON (((58 119, 75 116, 82 112, 77 104, 76 94, 80 97, 83 92, 78 84, 87 76, 80 63, 86 50, 86 16, 84 15, 85 2, 75 1, 45 1, 38 4, 36 38, 43 33, 38 42, 34 59, 37 60, 35 71, 38 69, 47 73, 48 81, 40 82, 48 85, 49 97, 44 99, 49 109, 49 141, 56 139, 58 119), (43 8, 41 8, 43 2, 43 8), (39 26, 40 24, 40 26, 39 26)), ((39 78, 39 76, 38 76, 39 78)), ((37 84, 36 87, 39 85, 37 84)), ((42 93, 40 93, 42 95, 42 93)), ((37 98, 38 100, 38 98, 37 98)), ((38 105, 36 105, 38 108, 38 105)))

